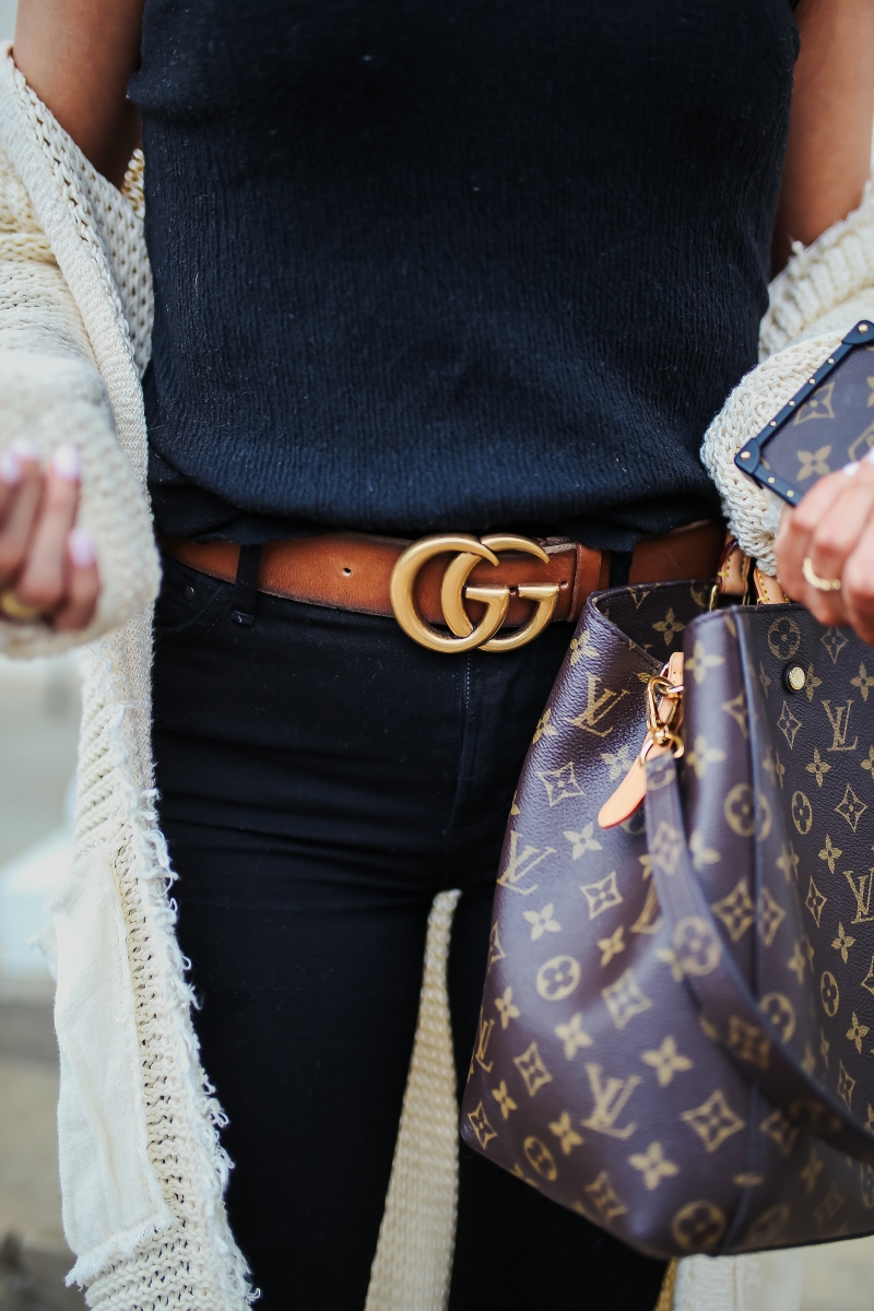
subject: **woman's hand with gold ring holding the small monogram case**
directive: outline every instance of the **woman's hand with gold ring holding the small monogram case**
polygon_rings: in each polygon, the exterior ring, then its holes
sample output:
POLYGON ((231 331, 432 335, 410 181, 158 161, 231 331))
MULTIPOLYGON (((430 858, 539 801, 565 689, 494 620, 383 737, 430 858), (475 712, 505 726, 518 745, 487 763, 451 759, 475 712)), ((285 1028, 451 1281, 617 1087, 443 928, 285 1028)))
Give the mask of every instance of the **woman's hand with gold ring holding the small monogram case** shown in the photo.
POLYGON ((874 646, 874 463, 848 464, 786 506, 774 543, 777 577, 820 624, 850 624, 874 646), (816 579, 816 582, 812 582, 816 579), (839 583, 824 590, 827 583, 839 583))

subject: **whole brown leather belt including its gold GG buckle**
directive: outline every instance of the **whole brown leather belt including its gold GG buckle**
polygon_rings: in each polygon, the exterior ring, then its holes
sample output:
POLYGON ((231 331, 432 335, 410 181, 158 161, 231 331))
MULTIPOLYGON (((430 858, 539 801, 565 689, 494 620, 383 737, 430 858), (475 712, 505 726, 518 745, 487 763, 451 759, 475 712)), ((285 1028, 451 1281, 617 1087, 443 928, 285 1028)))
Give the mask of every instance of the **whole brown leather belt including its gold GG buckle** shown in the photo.
MULTIPOLYGON (((723 540, 725 528, 719 523, 693 523, 663 538, 643 538, 634 548, 629 582, 712 578, 719 566, 723 540)), ((240 547, 236 543, 162 538, 161 547, 176 560, 212 578, 235 582, 237 577, 240 547)), ((258 590, 333 610, 393 615, 421 641, 422 635, 411 631, 418 619, 423 621, 418 627, 434 635, 434 640, 423 645, 455 650, 486 644, 485 637, 461 640, 460 629, 476 625, 485 632, 485 620, 493 608, 495 619, 502 610, 495 631, 522 627, 527 632, 532 628, 532 612, 545 615, 546 610, 552 621, 575 623, 586 598, 609 586, 609 569, 608 551, 565 538, 533 543, 507 535, 476 539, 439 534, 410 543, 359 532, 325 532, 316 538, 266 543, 258 590), (447 579, 449 583, 455 579, 455 611, 447 579), (411 603, 406 607, 413 615, 410 627, 398 599, 405 586, 411 603), (447 624, 456 637, 446 636, 447 624)), ((537 631, 542 627, 540 623, 537 631)), ((525 640, 532 636, 533 631, 525 640)), ((514 638, 512 645, 522 642, 514 638)), ((510 638, 502 637, 486 649, 510 649, 510 638)))

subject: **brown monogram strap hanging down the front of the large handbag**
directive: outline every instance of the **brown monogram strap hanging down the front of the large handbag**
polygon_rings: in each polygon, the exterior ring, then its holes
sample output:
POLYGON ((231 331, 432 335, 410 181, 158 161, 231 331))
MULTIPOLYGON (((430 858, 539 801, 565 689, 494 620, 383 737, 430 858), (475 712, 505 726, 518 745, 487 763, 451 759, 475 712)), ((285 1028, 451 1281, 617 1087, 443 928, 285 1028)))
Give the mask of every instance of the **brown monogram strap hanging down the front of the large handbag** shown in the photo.
POLYGON ((671 929, 674 969, 681 971, 706 1032, 789 1121, 874 1165, 874 1134, 802 1068, 722 944, 689 861, 676 764, 670 754, 646 764, 646 840, 659 905, 671 929))

